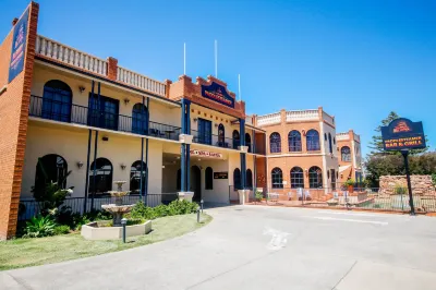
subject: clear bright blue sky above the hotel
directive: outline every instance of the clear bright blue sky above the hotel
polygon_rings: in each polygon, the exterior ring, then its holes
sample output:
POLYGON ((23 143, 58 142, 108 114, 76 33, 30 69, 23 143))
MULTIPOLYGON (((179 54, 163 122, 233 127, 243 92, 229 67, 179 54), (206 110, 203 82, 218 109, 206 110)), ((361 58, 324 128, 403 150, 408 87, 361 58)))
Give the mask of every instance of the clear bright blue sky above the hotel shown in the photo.
MULTIPOLYGON (((361 134, 363 153, 389 111, 422 120, 436 142, 436 1, 48 1, 38 33, 154 78, 214 74, 247 113, 312 109, 337 131, 361 134)), ((27 5, 0 3, 0 33, 27 5)))

